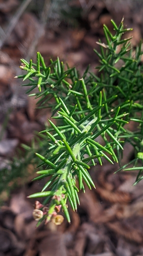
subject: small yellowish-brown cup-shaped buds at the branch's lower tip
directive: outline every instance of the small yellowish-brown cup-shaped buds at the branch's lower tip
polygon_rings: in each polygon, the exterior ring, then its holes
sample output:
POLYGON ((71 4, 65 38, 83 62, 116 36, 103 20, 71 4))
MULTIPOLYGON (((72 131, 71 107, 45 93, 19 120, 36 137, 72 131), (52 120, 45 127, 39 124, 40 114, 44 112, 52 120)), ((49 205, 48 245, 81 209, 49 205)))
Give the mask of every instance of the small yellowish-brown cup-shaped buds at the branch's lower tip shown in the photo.
MULTIPOLYGON (((51 221, 55 225, 61 225, 64 221, 64 217, 62 215, 58 214, 61 210, 61 206, 62 205, 56 205, 54 208, 55 210, 52 212, 52 215, 51 215, 51 221)), ((44 206, 39 201, 35 201, 35 209, 33 210, 33 218, 36 221, 41 220, 44 216, 46 216, 48 214, 48 210, 49 210, 49 208, 47 206, 44 206)), ((47 223, 48 223, 48 221, 47 221, 47 218, 45 217, 45 224, 47 224, 47 223)))

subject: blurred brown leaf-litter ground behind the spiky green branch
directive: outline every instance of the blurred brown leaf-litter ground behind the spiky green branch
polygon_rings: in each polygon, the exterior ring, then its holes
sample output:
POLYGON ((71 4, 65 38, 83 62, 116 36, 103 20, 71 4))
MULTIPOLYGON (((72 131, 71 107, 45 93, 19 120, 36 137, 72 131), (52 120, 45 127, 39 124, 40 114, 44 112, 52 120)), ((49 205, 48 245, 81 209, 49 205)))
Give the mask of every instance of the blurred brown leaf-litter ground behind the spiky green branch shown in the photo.
MULTIPOLYGON (((59 56, 81 76, 89 64, 97 73, 93 49, 105 42, 103 24, 112 32, 110 19, 119 25, 123 16, 135 49, 143 34, 142 0, 0 0, 0 256, 143 255, 142 181, 132 186, 135 172, 113 174, 116 164, 92 169, 97 189, 80 193, 78 212, 69 209, 71 225, 36 229, 34 201, 26 196, 44 181, 31 182, 36 165, 20 145, 31 145, 50 110, 36 109, 22 80, 13 78, 21 74, 20 58, 35 61, 37 51, 47 65, 59 56)), ((124 164, 133 154, 128 144, 124 164)))

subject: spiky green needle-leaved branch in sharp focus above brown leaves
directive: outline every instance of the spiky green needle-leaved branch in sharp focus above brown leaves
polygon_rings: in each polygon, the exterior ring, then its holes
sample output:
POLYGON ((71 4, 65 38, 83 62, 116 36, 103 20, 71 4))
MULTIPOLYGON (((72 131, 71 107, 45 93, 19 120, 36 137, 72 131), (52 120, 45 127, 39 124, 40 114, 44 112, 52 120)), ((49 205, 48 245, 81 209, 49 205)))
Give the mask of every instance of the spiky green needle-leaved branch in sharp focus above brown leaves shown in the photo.
POLYGON ((28 94, 38 88, 30 96, 39 98, 38 108, 51 108, 52 118, 56 120, 56 124, 49 120, 50 125, 41 132, 47 149, 42 155, 36 153, 42 160, 38 167, 44 168, 37 172, 39 176, 34 180, 50 176, 41 192, 29 196, 45 197, 43 205, 48 204, 46 214, 38 224, 45 218, 46 222, 50 221, 57 205, 62 205, 70 222, 67 199, 72 209, 77 210, 78 191, 84 191, 83 181, 90 189, 95 187, 88 172, 96 165, 95 159, 101 165, 104 158, 112 164, 119 162, 119 170, 138 169, 135 184, 143 178, 141 42, 133 56, 131 38, 122 39, 122 35, 132 29, 124 29, 123 20, 119 27, 113 20, 111 23, 115 35, 104 25, 106 44, 99 41, 100 53, 94 50, 100 62, 96 67, 99 76, 89 72, 88 67, 80 77, 76 68, 65 67, 59 58, 51 60, 46 67, 39 52, 37 63, 21 59, 20 68, 26 74, 18 78, 30 81, 22 86, 30 87, 28 94), (120 61, 120 68, 117 68, 116 63, 120 61), (130 120, 138 123, 134 133, 125 126, 130 120), (102 145, 98 142, 99 136, 104 141, 102 145), (135 158, 122 166, 123 148, 127 142, 133 145, 135 158), (131 163, 133 167, 126 168, 131 163))

